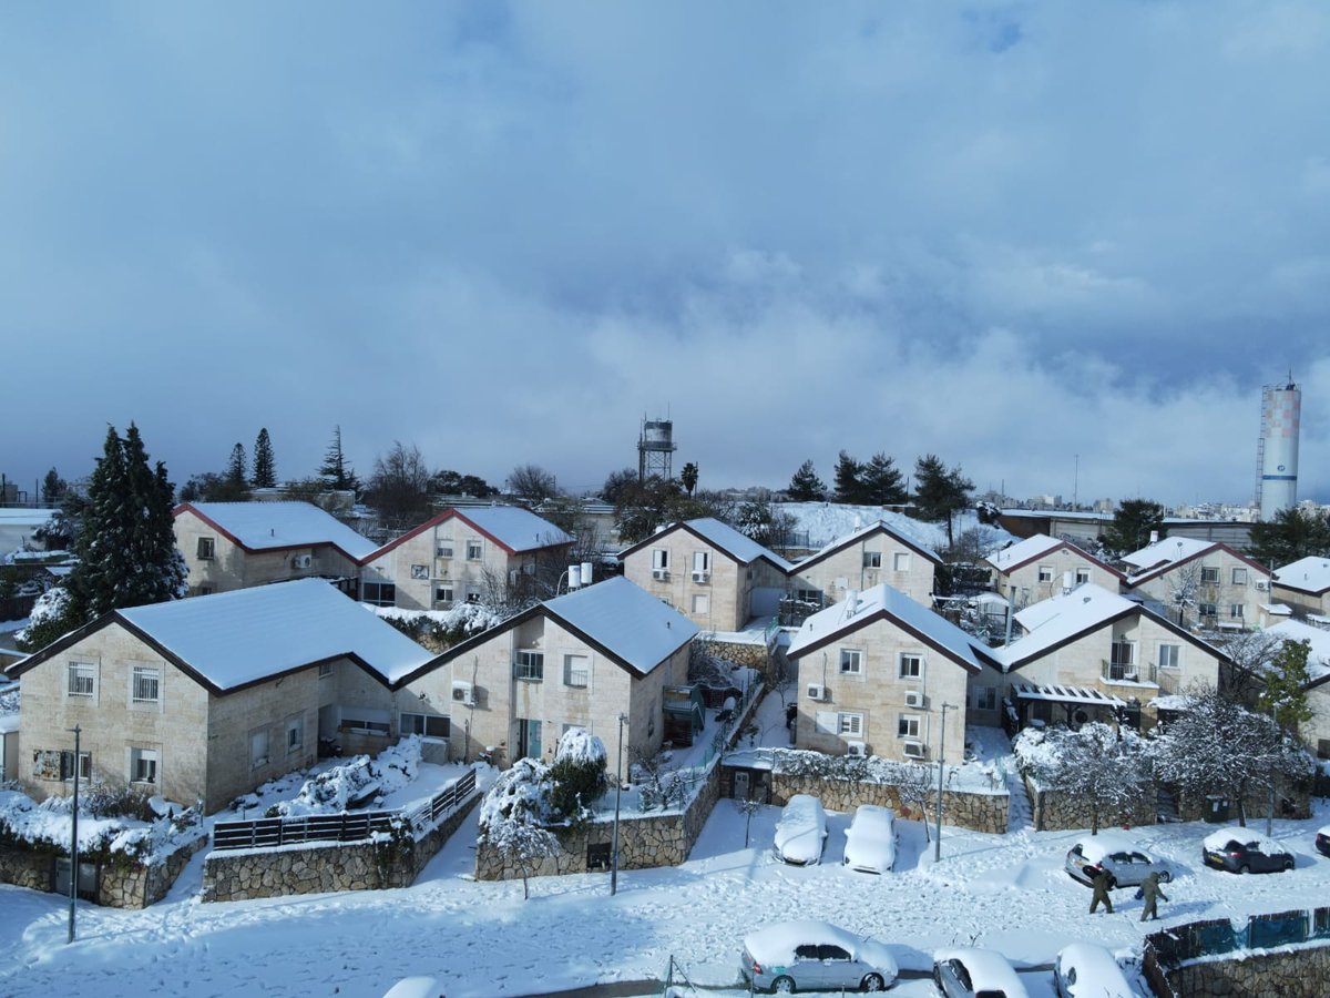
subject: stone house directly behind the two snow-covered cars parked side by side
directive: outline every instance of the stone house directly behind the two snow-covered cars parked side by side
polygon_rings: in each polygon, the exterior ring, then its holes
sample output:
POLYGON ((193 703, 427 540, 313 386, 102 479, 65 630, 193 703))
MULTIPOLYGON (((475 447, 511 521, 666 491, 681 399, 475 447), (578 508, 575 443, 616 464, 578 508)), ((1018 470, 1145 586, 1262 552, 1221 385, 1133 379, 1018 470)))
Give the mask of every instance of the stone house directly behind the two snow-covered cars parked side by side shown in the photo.
POLYGON ((810 616, 786 655, 799 672, 799 748, 927 761, 944 719, 958 752, 967 717, 998 720, 1000 676, 987 648, 884 583, 810 616), (992 703, 974 716, 971 683, 992 687, 992 703))

